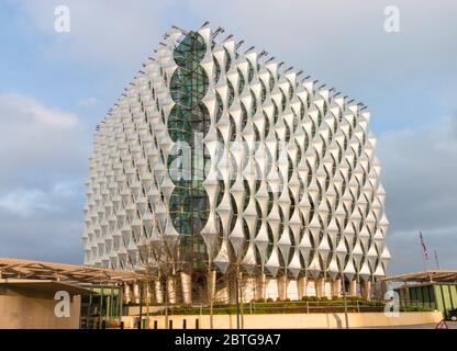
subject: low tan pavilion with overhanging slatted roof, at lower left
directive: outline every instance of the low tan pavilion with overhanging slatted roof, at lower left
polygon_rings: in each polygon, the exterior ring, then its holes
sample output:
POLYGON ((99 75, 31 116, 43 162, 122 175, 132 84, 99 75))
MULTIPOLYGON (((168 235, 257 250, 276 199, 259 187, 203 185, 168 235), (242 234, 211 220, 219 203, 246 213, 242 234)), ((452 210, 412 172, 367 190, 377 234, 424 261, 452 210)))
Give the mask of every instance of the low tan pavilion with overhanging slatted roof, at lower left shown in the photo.
POLYGON ((134 272, 0 258, 0 329, 119 326, 134 272))

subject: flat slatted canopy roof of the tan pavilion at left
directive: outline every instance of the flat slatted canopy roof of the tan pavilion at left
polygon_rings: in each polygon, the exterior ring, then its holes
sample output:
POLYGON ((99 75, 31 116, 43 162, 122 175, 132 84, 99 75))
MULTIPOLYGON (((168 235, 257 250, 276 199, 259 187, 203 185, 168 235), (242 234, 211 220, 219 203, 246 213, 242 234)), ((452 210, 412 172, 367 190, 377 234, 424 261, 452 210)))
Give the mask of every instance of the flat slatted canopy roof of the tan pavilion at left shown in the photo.
POLYGON ((0 258, 0 279, 52 280, 67 283, 122 284, 142 274, 88 265, 0 258))

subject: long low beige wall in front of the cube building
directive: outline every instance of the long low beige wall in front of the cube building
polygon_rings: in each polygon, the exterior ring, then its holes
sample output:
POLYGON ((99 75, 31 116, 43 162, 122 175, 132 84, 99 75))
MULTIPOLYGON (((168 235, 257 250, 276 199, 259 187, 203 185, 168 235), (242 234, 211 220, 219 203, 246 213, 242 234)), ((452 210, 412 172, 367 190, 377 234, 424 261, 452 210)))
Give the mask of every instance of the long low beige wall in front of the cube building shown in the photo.
MULTIPOLYGON (((144 317, 145 318, 145 317, 144 317)), ((201 329, 210 328, 209 315, 169 316, 174 329, 181 329, 183 320, 187 328, 194 329, 199 319, 201 329)), ((388 326, 408 326, 438 322, 443 319, 441 312, 400 313, 399 317, 388 317, 383 313, 349 313, 349 328, 369 328, 388 326)), ((134 328, 137 317, 122 317, 125 328, 134 328)), ((149 328, 154 328, 157 320, 158 329, 165 328, 164 316, 149 317, 149 328)), ((235 315, 215 315, 213 317, 214 329, 235 329, 235 315)), ((270 315, 244 315, 245 329, 302 329, 302 328, 345 328, 344 314, 270 314, 270 315)))

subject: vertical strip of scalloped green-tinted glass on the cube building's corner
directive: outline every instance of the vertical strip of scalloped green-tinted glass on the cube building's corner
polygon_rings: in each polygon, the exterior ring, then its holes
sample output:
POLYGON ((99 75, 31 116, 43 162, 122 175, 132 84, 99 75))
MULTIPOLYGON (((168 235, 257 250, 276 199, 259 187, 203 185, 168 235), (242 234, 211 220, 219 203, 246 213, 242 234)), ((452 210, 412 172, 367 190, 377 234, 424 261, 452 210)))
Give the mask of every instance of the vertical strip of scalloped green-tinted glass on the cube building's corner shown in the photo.
MULTIPOLYGON (((202 102, 208 91, 209 78, 200 66, 207 46, 201 35, 192 32, 178 43, 174 52, 178 68, 169 83, 171 99, 176 105, 168 115, 167 127, 175 143, 183 141, 193 148, 196 133, 202 133, 204 136, 210 126, 209 112, 202 102)), ((204 151, 190 154, 190 170, 185 170, 182 173, 186 177, 171 179, 175 189, 168 204, 175 229, 185 236, 199 234, 209 217, 209 199, 203 188, 205 162, 209 158, 204 151)), ((180 156, 179 150, 176 155, 169 155, 168 166, 180 156)), ((168 169, 170 170, 171 167, 168 169)), ((183 246, 186 242, 186 240, 182 241, 183 246)))

